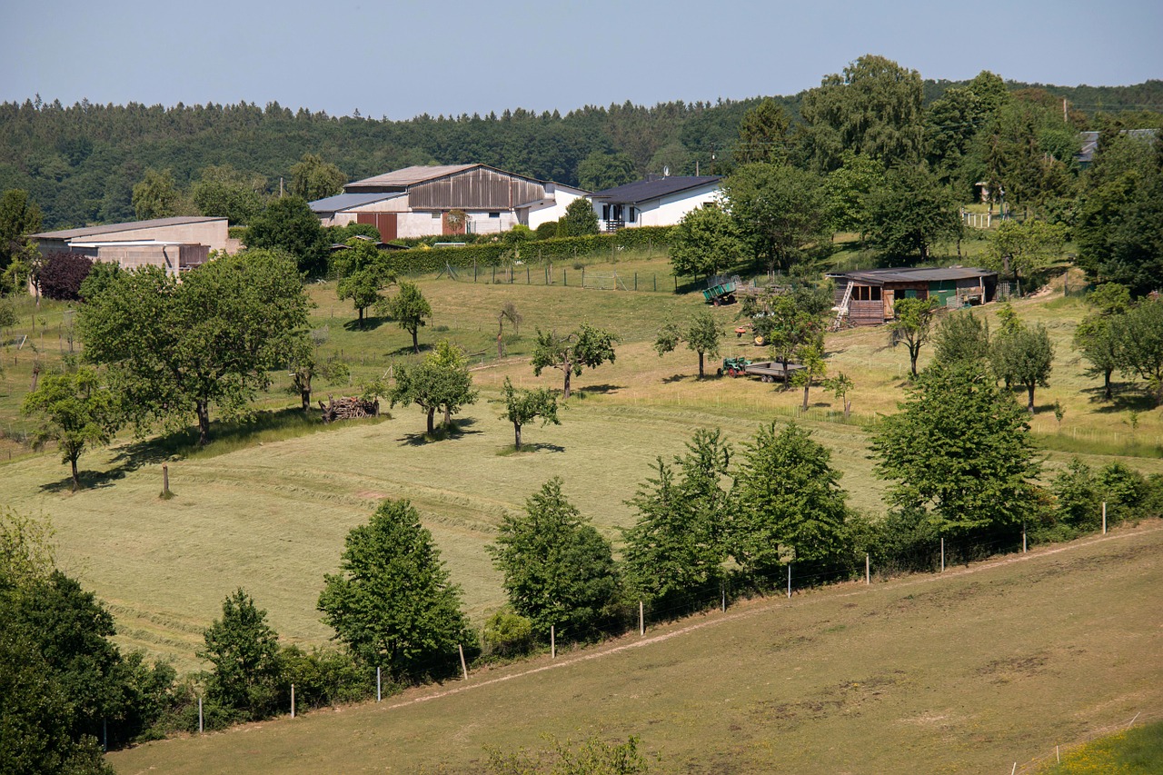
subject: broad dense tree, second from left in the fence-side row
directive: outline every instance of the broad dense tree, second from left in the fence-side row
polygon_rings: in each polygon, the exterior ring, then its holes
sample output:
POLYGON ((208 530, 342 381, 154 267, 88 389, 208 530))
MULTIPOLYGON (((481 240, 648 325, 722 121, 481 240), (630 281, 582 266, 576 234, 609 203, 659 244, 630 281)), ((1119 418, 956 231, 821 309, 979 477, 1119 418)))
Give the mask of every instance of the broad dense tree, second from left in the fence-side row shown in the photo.
POLYGON ((340 573, 323 578, 323 621, 364 664, 397 680, 449 673, 457 646, 475 644, 461 588, 407 500, 385 500, 351 528, 340 573))

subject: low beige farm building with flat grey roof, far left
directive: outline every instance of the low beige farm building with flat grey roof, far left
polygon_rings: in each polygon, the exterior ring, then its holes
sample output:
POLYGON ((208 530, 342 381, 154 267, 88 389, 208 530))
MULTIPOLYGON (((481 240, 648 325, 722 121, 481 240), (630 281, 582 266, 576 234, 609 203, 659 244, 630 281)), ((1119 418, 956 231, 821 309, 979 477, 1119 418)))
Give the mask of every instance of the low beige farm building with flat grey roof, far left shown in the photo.
POLYGON ((42 232, 31 239, 42 255, 79 253, 126 269, 160 266, 169 275, 205 263, 212 250, 240 247, 227 234, 227 219, 197 215, 42 232))

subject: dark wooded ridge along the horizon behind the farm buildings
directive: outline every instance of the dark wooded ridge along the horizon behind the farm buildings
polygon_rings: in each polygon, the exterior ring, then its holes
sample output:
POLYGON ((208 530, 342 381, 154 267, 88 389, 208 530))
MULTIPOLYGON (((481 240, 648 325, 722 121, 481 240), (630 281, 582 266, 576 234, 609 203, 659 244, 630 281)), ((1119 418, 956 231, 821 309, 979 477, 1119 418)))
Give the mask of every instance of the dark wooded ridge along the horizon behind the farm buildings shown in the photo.
MULTIPOLYGON (((990 76, 1042 118, 1056 116, 1061 130, 1042 131, 1039 144, 1069 163, 1075 131, 1104 127, 1157 127, 1163 113, 1163 80, 1115 87, 1063 87, 1004 81, 983 73, 972 81, 922 80, 915 70, 880 57, 862 57, 842 73, 825 76, 821 86, 792 97, 694 102, 651 107, 587 105, 565 114, 522 108, 488 115, 331 116, 278 102, 238 105, 94 105, 44 101, 0 105, 0 191, 19 189, 43 213, 43 228, 116 222, 135 216, 134 186, 152 170, 169 170, 188 190, 207 166, 245 177, 262 194, 279 192, 306 154, 359 179, 412 164, 485 163, 538 179, 598 189, 649 172, 723 173, 737 163, 766 161, 769 140, 741 127, 758 106, 782 108, 790 161, 830 172, 839 158, 823 152, 821 125, 834 123, 828 94, 854 84, 862 71, 891 65, 911 94, 901 116, 925 144, 930 163, 950 165, 966 152, 972 134, 984 127, 989 106, 964 99, 973 83, 990 76), (1066 122, 1063 118, 1065 100, 1066 122), (756 158, 756 157, 759 158, 756 158)), ((978 88, 977 91, 982 91, 978 88)), ((1020 118, 1028 123, 1028 111, 1020 118)), ((843 138, 841 138, 843 140, 843 138)), ((840 147, 840 143, 834 143, 840 147)), ((976 182, 966 170, 962 184, 976 182)), ((957 183, 957 180, 954 180, 957 183)), ((965 191, 968 199, 969 191, 965 191)))

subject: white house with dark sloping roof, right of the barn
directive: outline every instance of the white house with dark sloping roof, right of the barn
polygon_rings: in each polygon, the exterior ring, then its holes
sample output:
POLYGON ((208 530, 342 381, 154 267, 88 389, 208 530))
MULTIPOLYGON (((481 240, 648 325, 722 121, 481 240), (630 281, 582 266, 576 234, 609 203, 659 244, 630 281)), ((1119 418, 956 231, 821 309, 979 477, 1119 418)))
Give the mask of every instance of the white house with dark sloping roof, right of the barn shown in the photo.
POLYGON ((673 226, 692 209, 719 198, 716 175, 649 176, 593 194, 593 211, 604 232, 632 226, 673 226))

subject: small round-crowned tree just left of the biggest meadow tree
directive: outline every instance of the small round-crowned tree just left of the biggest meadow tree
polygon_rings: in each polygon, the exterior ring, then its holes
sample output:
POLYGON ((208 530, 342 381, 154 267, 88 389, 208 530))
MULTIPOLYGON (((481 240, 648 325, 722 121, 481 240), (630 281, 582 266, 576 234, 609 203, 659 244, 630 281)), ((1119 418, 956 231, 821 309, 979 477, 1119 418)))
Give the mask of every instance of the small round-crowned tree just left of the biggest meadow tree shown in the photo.
POLYGON ((55 441, 60 462, 72 469, 73 492, 80 489, 77 460, 85 449, 109 443, 122 421, 117 397, 93 369, 49 375, 24 397, 23 412, 40 419, 36 438, 55 441))

